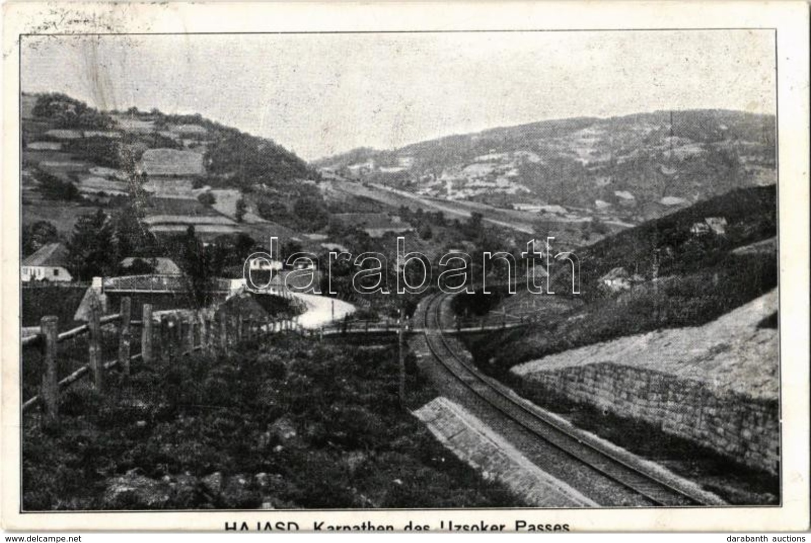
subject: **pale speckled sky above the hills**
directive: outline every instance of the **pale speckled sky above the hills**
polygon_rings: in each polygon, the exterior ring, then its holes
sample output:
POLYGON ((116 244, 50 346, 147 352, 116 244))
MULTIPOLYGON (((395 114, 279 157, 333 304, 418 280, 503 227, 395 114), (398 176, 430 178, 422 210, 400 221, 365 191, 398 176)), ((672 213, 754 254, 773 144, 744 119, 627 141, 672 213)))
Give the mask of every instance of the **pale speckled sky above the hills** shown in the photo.
POLYGON ((314 160, 658 109, 775 113, 774 33, 25 36, 23 92, 200 113, 314 160))

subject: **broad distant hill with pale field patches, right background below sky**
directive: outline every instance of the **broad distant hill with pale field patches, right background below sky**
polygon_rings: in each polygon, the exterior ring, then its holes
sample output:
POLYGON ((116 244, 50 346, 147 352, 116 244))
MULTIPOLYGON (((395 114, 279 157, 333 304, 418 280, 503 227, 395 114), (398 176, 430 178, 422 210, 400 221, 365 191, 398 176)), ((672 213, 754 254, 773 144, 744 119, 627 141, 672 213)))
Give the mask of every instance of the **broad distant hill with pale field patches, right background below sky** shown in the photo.
POLYGON ((569 118, 318 160, 345 177, 443 199, 581 207, 638 223, 775 183, 775 118, 717 109, 569 118))

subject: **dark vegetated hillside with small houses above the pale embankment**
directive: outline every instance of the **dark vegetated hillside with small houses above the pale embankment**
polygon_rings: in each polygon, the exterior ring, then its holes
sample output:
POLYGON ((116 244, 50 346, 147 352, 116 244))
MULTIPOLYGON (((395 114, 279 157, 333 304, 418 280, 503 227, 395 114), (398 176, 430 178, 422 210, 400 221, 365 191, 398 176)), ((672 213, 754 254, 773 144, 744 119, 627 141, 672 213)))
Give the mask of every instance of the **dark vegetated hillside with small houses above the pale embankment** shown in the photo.
POLYGON ((775 216, 774 186, 741 189, 609 237, 580 254, 585 306, 563 316, 542 310, 542 322, 535 327, 471 345, 476 359, 500 374, 522 361, 569 348, 716 319, 775 288, 773 256, 729 252, 775 236, 775 216), (725 216, 727 236, 703 241, 692 237, 690 225, 706 216, 725 216), (654 249, 659 250, 660 280, 648 280, 619 295, 599 289, 599 277, 618 266, 632 273, 638 269, 650 279, 654 249))

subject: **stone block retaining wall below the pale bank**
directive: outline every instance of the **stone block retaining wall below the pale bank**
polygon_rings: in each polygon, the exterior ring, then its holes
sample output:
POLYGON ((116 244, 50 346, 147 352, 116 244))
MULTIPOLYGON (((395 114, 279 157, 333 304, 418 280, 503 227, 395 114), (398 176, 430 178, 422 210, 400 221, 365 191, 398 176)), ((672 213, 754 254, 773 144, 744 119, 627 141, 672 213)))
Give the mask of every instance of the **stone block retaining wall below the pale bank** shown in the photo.
POLYGON ((645 421, 741 464, 771 473, 779 470, 776 400, 752 399, 700 381, 612 362, 539 371, 524 378, 551 395, 645 421))

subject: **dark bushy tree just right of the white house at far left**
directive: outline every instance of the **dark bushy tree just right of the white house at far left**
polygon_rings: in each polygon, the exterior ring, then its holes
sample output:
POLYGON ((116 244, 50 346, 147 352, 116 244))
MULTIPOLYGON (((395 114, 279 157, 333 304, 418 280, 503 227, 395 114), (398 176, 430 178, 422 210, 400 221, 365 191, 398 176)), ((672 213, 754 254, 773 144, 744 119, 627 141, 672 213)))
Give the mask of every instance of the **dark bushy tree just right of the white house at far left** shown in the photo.
POLYGON ((105 276, 115 269, 114 228, 109 216, 99 208, 76 219, 67 242, 68 266, 78 280, 105 276))

